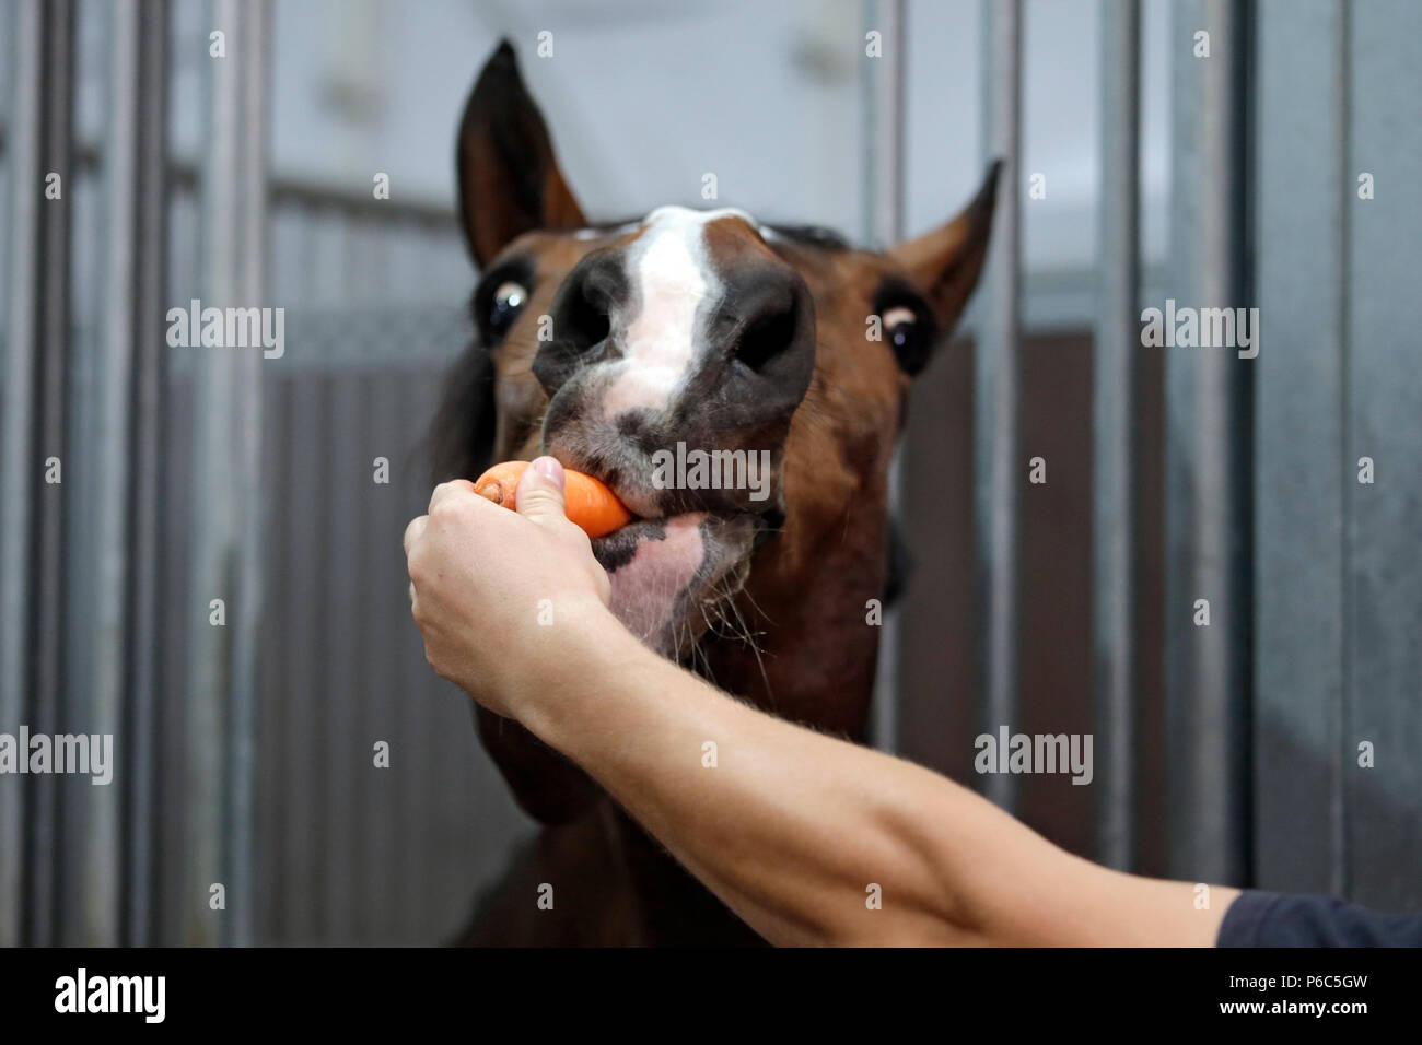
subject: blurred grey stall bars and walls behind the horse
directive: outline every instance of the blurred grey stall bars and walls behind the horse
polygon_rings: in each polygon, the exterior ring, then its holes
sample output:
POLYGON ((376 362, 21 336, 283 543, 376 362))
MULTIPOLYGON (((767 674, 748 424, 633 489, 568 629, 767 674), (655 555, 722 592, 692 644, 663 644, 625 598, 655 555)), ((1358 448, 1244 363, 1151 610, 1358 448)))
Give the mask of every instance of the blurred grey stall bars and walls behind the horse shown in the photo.
POLYGON ((0 776, 0 944, 439 943, 536 830, 400 550, 501 37, 597 219, 714 172, 887 245, 1005 156, 876 741, 1115 866, 1422 904, 1416 4, 0 0, 0 734, 117 752, 0 776), (192 299, 283 307, 284 355, 168 347, 192 299), (1140 348, 1166 299, 1257 306, 1258 358, 1140 348), (1092 732, 1094 783, 977 776, 1000 725, 1092 732))

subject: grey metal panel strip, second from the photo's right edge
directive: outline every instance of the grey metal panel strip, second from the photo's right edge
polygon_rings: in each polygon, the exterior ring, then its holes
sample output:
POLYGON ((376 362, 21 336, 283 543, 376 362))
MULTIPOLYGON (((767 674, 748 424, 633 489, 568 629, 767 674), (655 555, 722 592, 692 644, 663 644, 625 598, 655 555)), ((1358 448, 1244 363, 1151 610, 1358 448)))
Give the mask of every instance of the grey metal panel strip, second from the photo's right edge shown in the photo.
POLYGON ((1258 57, 1254 874, 1348 894, 1349 9, 1266 0, 1258 57), (1332 162, 1322 162, 1330 158, 1332 162), (1301 222, 1300 215, 1310 215, 1301 222), (1337 468, 1318 462, 1337 461, 1337 468))

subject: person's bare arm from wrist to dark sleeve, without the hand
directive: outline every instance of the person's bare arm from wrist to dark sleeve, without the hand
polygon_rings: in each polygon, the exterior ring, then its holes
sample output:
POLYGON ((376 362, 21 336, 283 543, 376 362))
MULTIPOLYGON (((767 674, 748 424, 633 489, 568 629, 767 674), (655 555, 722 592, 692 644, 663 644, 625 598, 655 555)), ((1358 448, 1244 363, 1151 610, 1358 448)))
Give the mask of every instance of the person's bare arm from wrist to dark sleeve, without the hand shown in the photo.
POLYGON ((725 697, 620 626, 570 641, 520 718, 775 943, 1213 941, 1187 886, 1072 857, 920 766, 725 697), (1160 906, 1179 917, 1162 924, 1160 906))

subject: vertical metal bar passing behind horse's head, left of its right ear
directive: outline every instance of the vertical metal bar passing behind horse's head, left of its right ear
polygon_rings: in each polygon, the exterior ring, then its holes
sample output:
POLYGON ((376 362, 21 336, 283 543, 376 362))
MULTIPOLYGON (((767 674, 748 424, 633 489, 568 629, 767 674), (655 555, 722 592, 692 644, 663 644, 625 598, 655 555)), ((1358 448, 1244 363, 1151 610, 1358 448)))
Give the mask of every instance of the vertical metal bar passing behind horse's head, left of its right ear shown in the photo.
MULTIPOLYGON (((882 34, 883 54, 870 63, 867 176, 867 240, 889 247, 903 239, 903 98, 907 78, 904 0, 876 0, 869 26, 882 34)), ((899 510, 903 485, 902 454, 889 466, 889 515, 899 510)), ((887 545, 887 542, 886 542, 887 545)), ((899 738, 899 613, 889 610, 879 636, 870 736, 882 751, 894 751, 899 738)))

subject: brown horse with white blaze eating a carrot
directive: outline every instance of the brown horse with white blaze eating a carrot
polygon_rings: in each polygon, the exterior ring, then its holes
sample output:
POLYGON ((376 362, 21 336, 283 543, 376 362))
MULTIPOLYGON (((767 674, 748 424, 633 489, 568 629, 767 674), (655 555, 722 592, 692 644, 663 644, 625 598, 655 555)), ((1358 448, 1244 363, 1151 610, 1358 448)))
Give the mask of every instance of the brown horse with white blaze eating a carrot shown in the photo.
MULTIPOLYGON (((637 515, 593 542, 619 618, 728 692, 863 741, 890 456, 910 378, 981 272, 997 168, 958 218, 884 253, 729 209, 592 225, 505 43, 458 173, 478 337, 434 424, 438 478, 539 454, 602 478, 637 515)), ((482 708, 478 729, 546 827, 465 943, 759 940, 577 766, 482 708)))

